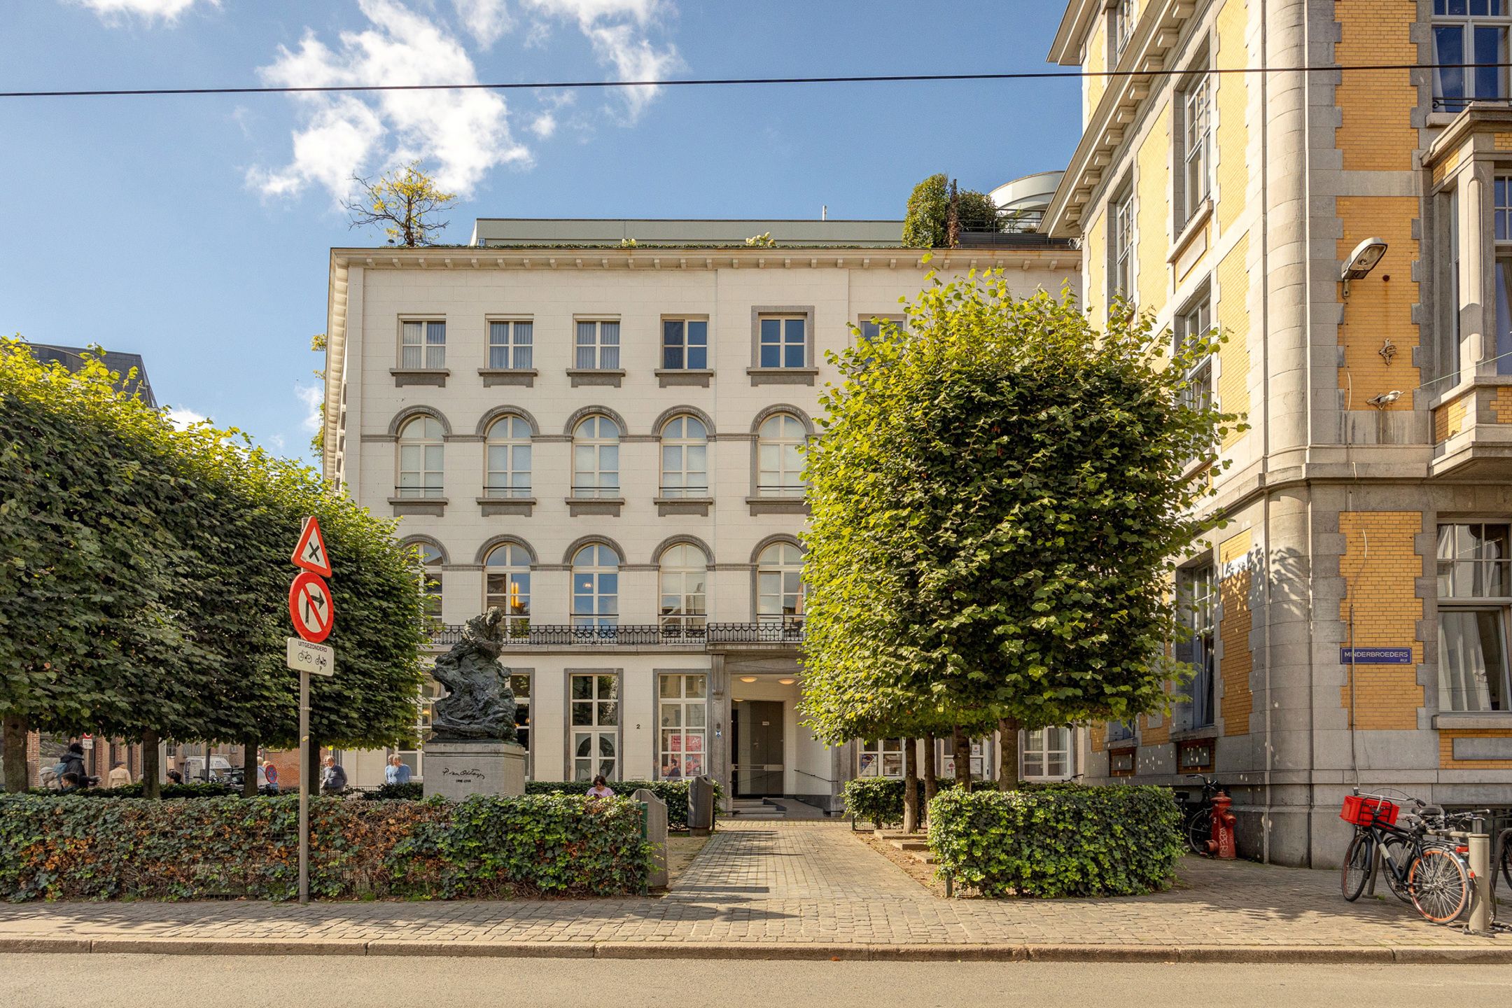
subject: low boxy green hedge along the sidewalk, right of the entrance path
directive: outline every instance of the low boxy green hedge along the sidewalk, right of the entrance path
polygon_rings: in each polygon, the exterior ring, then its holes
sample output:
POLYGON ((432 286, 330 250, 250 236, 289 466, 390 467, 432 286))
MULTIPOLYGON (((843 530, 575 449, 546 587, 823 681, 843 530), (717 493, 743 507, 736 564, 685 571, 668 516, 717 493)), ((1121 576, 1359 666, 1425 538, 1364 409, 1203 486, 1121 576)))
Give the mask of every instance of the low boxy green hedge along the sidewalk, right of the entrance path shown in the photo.
POLYGON ((1132 896, 1166 889, 1184 845, 1170 789, 1052 784, 940 792, 930 849, 983 896, 1132 896))

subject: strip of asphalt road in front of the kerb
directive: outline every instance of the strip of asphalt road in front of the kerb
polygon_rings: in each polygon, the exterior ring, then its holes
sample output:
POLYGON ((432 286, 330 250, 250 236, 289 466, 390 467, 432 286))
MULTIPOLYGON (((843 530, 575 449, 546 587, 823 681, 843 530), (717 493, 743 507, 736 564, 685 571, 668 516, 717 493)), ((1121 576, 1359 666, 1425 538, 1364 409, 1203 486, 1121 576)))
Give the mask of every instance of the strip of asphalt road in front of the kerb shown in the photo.
POLYGON ((1383 1000, 1504 1005, 1507 991, 1512 991, 1512 966, 0 955, 3 1008, 711 1003, 1379 1008, 1383 1000))

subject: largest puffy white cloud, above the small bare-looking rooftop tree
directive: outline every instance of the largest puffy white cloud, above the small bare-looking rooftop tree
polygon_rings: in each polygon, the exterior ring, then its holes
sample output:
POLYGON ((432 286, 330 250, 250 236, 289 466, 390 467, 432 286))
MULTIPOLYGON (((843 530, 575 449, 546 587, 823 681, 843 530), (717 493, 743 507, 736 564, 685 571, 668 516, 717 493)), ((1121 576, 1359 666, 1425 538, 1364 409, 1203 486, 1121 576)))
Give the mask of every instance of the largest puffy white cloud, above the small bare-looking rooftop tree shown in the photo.
MULTIPOLYGON (((445 29, 396 0, 358 0, 372 26, 343 32, 337 48, 307 32, 296 50, 278 47, 262 77, 278 86, 476 83, 467 50, 445 29)), ((334 196, 351 175, 419 159, 443 189, 467 196, 499 165, 529 159, 510 136, 508 106, 488 91, 387 91, 375 95, 299 95, 310 109, 293 133, 293 160, 254 168, 248 183, 292 195, 310 183, 334 196)))

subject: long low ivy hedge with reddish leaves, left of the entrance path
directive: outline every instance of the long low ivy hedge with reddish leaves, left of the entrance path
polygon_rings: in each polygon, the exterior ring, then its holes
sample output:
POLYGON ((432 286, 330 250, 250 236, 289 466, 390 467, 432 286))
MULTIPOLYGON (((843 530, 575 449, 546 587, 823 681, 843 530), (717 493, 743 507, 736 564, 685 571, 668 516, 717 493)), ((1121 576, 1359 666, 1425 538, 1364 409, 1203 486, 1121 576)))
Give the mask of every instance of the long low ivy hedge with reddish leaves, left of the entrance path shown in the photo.
MULTIPOLYGON (((296 796, 91 801, 0 796, 0 898, 293 899, 296 796)), ((634 801, 310 799, 310 893, 327 899, 638 893, 634 801)))

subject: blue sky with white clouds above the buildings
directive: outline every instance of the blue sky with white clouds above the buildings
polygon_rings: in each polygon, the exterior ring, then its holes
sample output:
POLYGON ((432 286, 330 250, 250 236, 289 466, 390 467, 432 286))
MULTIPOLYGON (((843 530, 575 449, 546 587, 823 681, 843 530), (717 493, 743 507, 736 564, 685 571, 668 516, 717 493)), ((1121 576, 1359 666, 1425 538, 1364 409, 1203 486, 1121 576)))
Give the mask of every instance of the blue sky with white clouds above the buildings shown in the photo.
MULTIPOLYGON (((1043 70, 1054 0, 5 0, 0 91, 1043 70)), ((897 218, 1060 168, 1075 82, 0 100, 0 332, 139 352, 157 397, 307 456, 355 169, 476 216, 897 218)))

